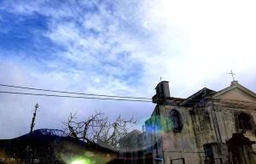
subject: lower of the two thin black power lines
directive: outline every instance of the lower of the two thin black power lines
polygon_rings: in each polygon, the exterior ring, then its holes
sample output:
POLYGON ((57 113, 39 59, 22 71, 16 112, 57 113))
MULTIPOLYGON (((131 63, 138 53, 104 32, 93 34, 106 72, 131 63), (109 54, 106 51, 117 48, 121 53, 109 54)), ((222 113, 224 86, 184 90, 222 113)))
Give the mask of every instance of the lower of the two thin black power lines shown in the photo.
POLYGON ((23 94, 23 95, 33 95, 33 96, 46 96, 46 97, 59 97, 59 98, 105 99, 105 100, 109 99, 109 100, 118 100, 118 101, 152 102, 152 101, 143 100, 143 99, 112 99, 112 98, 96 98, 96 97, 84 97, 84 96, 68 96, 68 95, 44 94, 44 93, 21 93, 21 92, 9 92, 9 91, 0 91, 0 93, 23 94))

